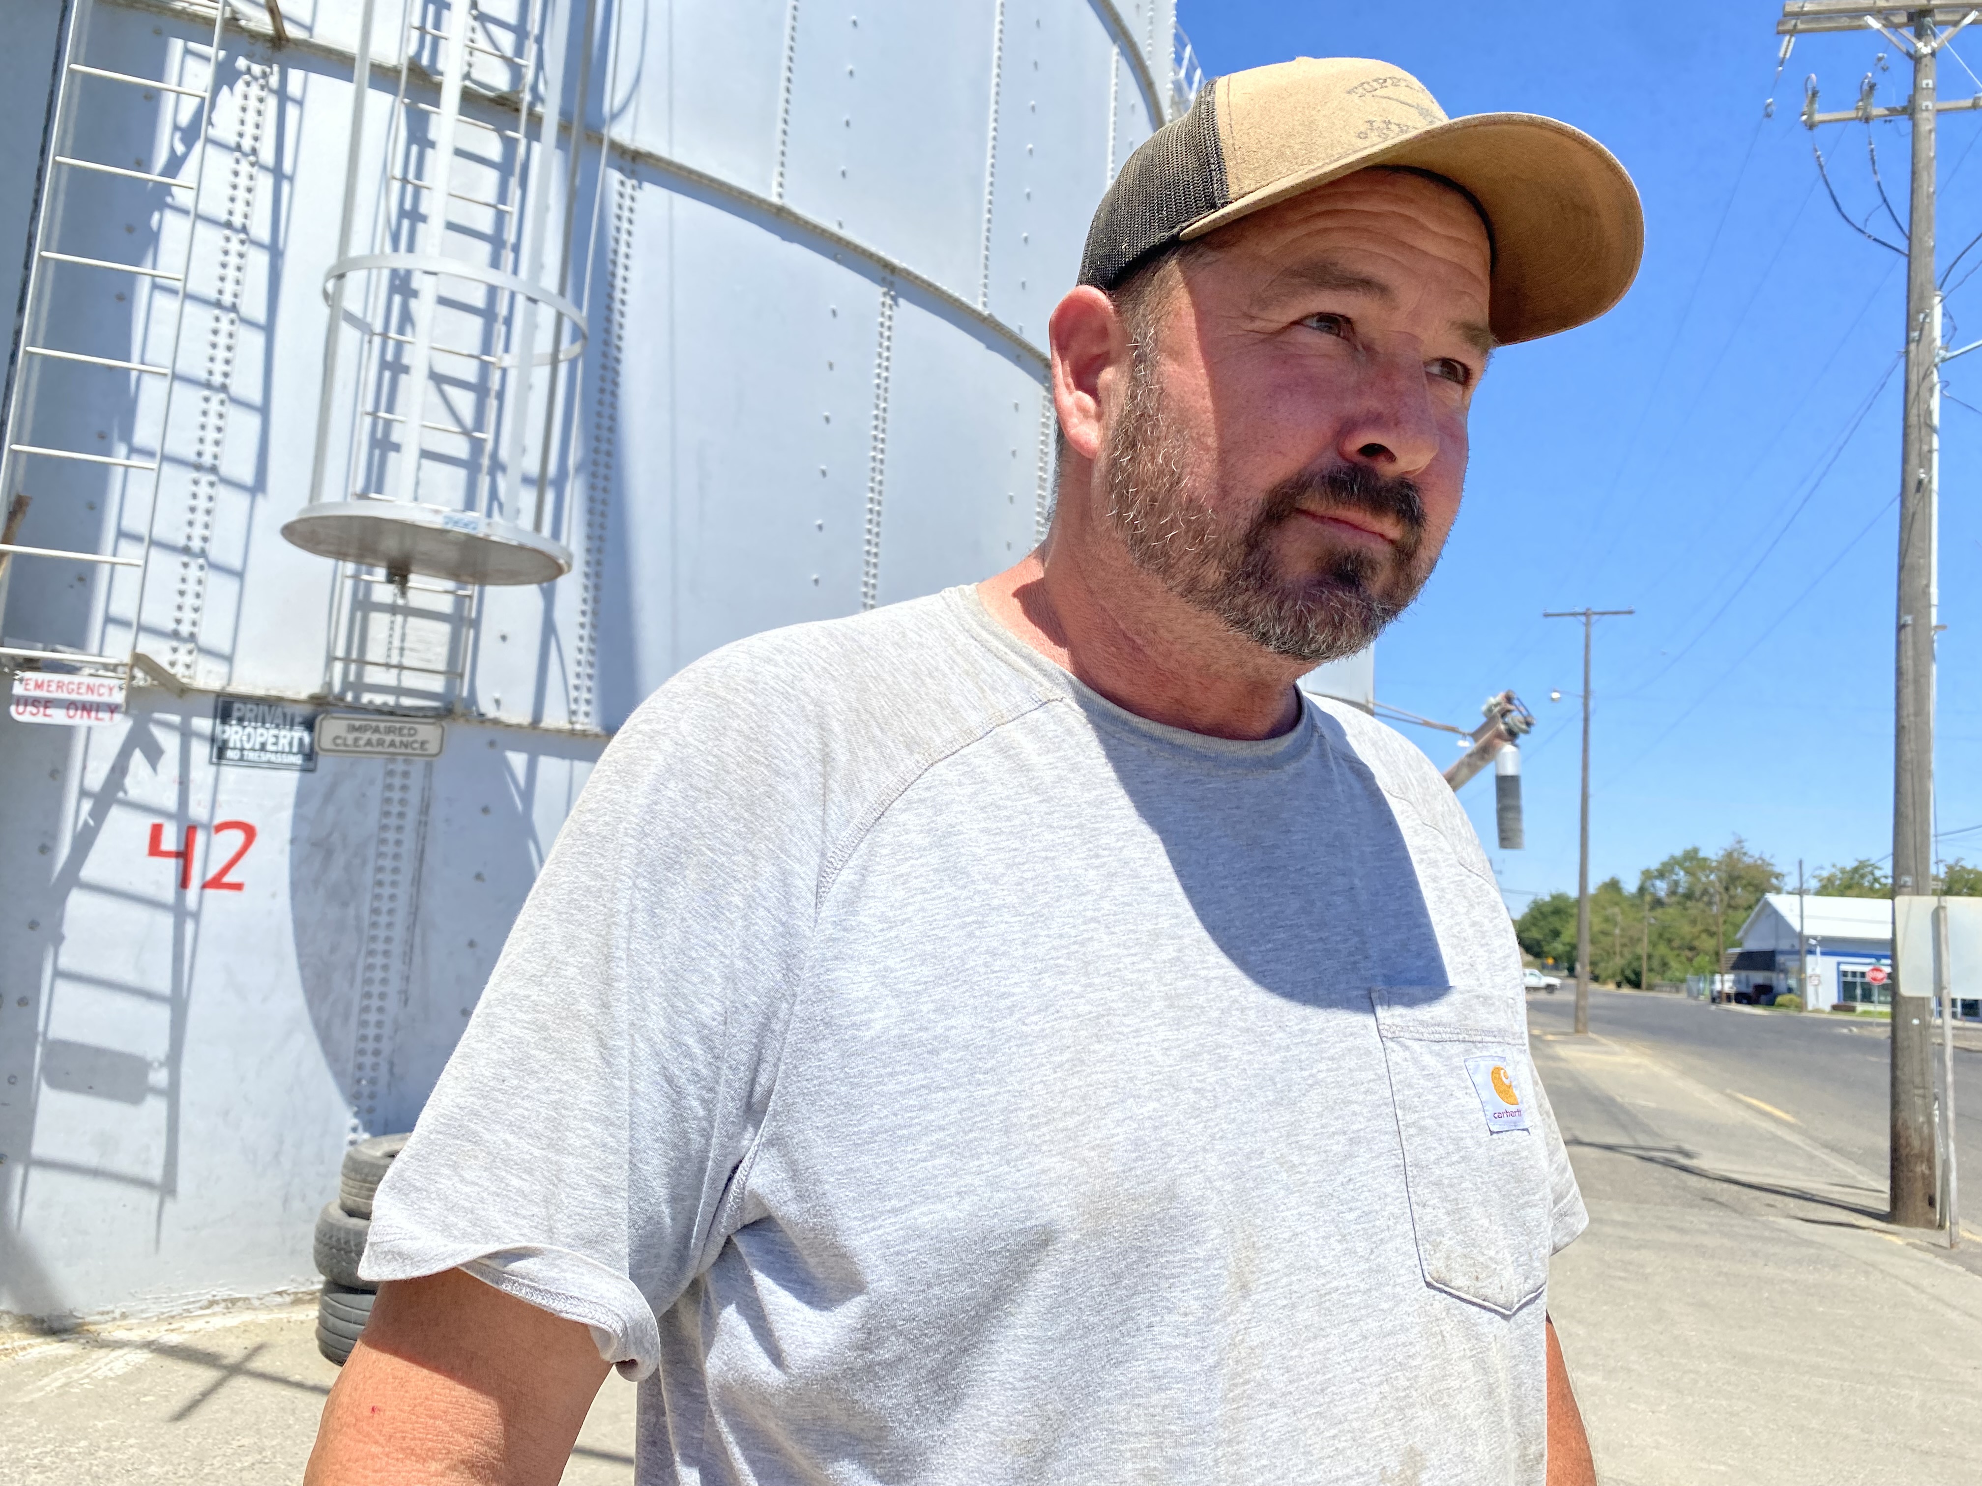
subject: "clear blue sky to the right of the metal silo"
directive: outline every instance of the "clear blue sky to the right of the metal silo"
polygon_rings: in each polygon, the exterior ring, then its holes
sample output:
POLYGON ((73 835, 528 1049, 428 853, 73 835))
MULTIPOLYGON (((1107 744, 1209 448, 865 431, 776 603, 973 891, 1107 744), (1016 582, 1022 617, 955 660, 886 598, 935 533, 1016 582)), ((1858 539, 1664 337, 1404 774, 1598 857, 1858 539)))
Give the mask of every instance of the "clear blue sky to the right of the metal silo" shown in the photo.
MULTIPOLYGON (((1576 890, 1582 624, 1599 620, 1592 880, 1740 834, 1796 862, 1891 852, 1899 256, 1831 208, 1798 113, 1816 73, 1845 109, 1873 71, 1901 103, 1911 65, 1875 36, 1802 38, 1776 79, 1778 4, 1483 6, 1181 0, 1205 71, 1290 55, 1383 57, 1447 113, 1548 113, 1601 139, 1645 198, 1645 265, 1596 325, 1510 347, 1473 412, 1459 527, 1417 606, 1377 644, 1377 697, 1473 725, 1514 688, 1536 713, 1522 852, 1492 848, 1492 785, 1467 802, 1508 903, 1576 890), (1877 69, 1887 52, 1889 71, 1877 69), (1774 95, 1772 119, 1762 103, 1774 95), (1550 703, 1550 690, 1564 699, 1550 703)), ((1954 44, 1982 71, 1982 26, 1954 44)), ((1942 53, 1940 97, 1982 93, 1942 53)), ((1845 208, 1879 206, 1865 125, 1817 131, 1845 208)), ((1982 111, 1940 121, 1940 262, 1982 230, 1982 111)), ((1907 208, 1907 125, 1875 125, 1907 208)), ((1899 230, 1883 210, 1871 224, 1899 230)), ((1982 246, 1956 269, 1982 260, 1982 246)), ((1982 339, 1982 275, 1948 297, 1982 339)), ((1982 353, 1942 406, 1938 826, 1982 858, 1982 353)), ((1405 729, 1445 765, 1457 749, 1405 729)))

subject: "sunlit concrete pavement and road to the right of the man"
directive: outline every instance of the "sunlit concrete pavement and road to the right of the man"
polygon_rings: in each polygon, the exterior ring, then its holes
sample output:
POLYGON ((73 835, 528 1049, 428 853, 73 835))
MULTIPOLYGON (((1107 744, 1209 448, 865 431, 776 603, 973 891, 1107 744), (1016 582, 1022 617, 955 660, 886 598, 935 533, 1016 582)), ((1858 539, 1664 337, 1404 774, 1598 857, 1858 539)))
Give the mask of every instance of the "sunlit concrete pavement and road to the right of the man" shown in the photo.
POLYGON ((1570 1014, 1530 997, 1592 1213, 1550 1310, 1605 1486, 1982 1482, 1982 1224, 1948 1254, 1879 1221, 1883 1034, 1633 993, 1594 995, 1592 1038, 1570 1014))

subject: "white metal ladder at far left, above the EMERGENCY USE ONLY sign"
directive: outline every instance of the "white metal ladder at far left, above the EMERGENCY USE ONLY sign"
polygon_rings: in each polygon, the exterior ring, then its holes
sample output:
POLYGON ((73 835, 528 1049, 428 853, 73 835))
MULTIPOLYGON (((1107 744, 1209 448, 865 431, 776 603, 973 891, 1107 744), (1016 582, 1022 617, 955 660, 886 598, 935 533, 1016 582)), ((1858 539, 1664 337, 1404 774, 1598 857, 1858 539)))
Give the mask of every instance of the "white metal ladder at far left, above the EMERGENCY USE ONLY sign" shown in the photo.
MULTIPOLYGON (((109 674, 123 680, 131 678, 133 666, 159 672, 163 678, 163 666, 149 662, 149 658, 139 656, 139 644, 143 640, 143 610, 145 610, 145 579, 149 575, 151 547, 153 547, 153 525, 157 521, 159 509, 159 489, 165 476, 165 434, 170 424, 172 414, 172 386, 176 382, 174 369, 178 365, 178 343, 186 323, 186 277, 192 265, 192 244, 196 240, 198 222, 198 202, 200 184, 206 174, 206 145, 212 129, 214 117, 214 97, 220 87, 220 40, 228 22, 228 0, 220 0, 214 6, 214 26, 206 48, 206 81, 202 87, 188 87, 170 77, 145 77, 127 71, 115 71, 109 67, 97 67, 85 61, 87 55, 87 32, 93 12, 93 0, 73 0, 73 10, 67 18, 67 30, 61 38, 61 61, 55 75, 55 97, 52 107, 52 127, 48 131, 48 157, 42 162, 42 178, 38 182, 36 220, 34 220, 34 252, 28 260, 28 291, 26 291, 26 313, 20 327, 20 345, 14 363, 8 367, 8 388, 6 388, 6 422, 0 424, 0 495, 6 495, 8 517, 4 541, 0 541, 0 614, 4 614, 6 586, 12 573, 12 565, 20 559, 32 561, 67 561, 83 563, 107 575, 105 581, 91 584, 89 616, 85 620, 85 634, 89 644, 65 646, 52 638, 30 638, 24 644, 12 644, 12 636, 0 634, 0 664, 10 664, 20 668, 42 668, 54 662, 57 668, 75 668, 95 674, 109 674), (163 99, 163 107, 168 117, 178 119, 178 109, 184 107, 182 99, 198 99, 194 105, 198 109, 198 135, 192 145, 186 168, 180 174, 161 174, 157 170, 147 170, 137 164, 123 166, 111 160, 87 159, 77 153, 75 147, 75 121, 81 109, 81 97, 93 87, 135 87, 143 89, 147 97, 155 91, 163 99), (163 264, 166 244, 166 218, 170 208, 161 212, 161 228, 151 246, 151 262, 145 264, 125 264, 111 258, 101 258, 93 254, 65 252, 55 240, 59 236, 59 224, 65 218, 61 210, 69 182, 77 174, 97 174, 113 176, 125 180, 137 180, 147 186, 161 186, 174 200, 184 202, 186 234, 184 246, 176 254, 172 264, 163 264), (59 267, 57 267, 59 265, 59 267), (59 313, 59 293, 57 285, 63 269, 87 269, 91 273, 115 273, 131 279, 133 289, 145 285, 155 295, 159 289, 170 287, 176 303, 170 311, 170 341, 163 363, 143 361, 143 341, 151 313, 137 315, 137 293, 133 291, 133 341, 135 349, 131 357, 105 357, 81 351, 75 347, 57 345, 65 329, 65 321, 59 313), (42 382, 42 372, 52 365, 83 365, 101 371, 125 372, 133 382, 127 382, 127 392, 123 396, 125 406, 133 410, 131 434, 125 440, 125 454, 97 454, 93 450, 79 450, 54 442, 52 436, 36 434, 36 402, 42 382), (137 428, 137 410, 143 406, 141 378, 159 376, 163 378, 163 394, 159 398, 159 416, 155 424, 155 434, 147 440, 141 438, 137 428), (143 450, 149 444, 149 454, 143 450), (36 470, 54 466, 97 466, 105 470, 131 470, 139 478, 149 478, 149 491, 141 491, 139 503, 145 513, 143 517, 143 541, 139 543, 137 555, 125 551, 129 547, 127 531, 117 519, 115 501, 105 495, 103 513, 99 525, 99 541, 95 547, 69 549, 69 547, 38 547, 14 541, 28 513, 32 501, 36 499, 38 483, 55 483, 30 479, 36 470), (137 573, 135 592, 131 598, 129 622, 131 622, 131 644, 119 652, 109 650, 107 634, 115 622, 113 614, 113 586, 119 571, 133 569, 137 573)), ((166 63, 165 71, 172 71, 172 59, 176 59, 176 71, 184 73, 188 61, 196 61, 198 53, 192 46, 170 42, 163 48, 166 63)), ((149 301, 147 301, 149 311, 149 301)), ((73 491, 71 491, 73 493, 73 491)))

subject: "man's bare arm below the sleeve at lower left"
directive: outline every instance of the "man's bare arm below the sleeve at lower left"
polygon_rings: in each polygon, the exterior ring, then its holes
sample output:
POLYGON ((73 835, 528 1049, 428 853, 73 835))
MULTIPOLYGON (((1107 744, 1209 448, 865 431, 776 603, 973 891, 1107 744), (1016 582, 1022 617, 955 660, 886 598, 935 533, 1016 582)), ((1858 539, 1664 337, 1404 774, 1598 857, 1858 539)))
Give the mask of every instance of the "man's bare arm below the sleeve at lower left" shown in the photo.
POLYGON ((605 1375, 589 1327, 462 1270, 385 1284, 303 1482, 555 1486, 605 1375))

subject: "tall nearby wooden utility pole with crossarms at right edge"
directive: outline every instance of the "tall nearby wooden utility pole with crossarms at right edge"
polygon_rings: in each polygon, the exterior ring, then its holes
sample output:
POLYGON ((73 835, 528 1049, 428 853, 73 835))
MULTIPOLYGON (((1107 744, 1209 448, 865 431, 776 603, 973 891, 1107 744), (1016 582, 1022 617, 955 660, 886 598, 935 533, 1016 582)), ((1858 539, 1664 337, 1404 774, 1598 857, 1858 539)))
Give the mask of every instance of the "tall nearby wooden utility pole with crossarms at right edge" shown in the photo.
MULTIPOLYGON (((1974 6, 1867 6, 1847 0, 1790 0, 1776 32, 1788 61, 1808 32, 1879 32, 1913 61, 1905 107, 1873 107, 1867 79, 1855 109, 1817 113, 1816 81, 1806 87, 1804 125, 1901 119, 1913 133, 1913 190, 1907 222, 1907 384, 1899 472, 1899 606, 1893 705, 1893 896, 1932 894, 1934 870, 1934 545, 1940 476, 1940 363, 1964 355, 1940 343, 1940 287, 1934 275, 1934 121, 1982 99, 1940 103, 1934 61, 1968 22, 1974 6), (1950 26, 1946 34, 1940 26, 1950 26)), ((1897 909, 1895 909, 1897 917, 1897 909)), ((1889 1219, 1907 1228, 1934 1228, 1934 1042, 1932 987, 1895 985, 1891 1078, 1889 1219)))

